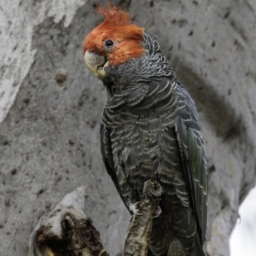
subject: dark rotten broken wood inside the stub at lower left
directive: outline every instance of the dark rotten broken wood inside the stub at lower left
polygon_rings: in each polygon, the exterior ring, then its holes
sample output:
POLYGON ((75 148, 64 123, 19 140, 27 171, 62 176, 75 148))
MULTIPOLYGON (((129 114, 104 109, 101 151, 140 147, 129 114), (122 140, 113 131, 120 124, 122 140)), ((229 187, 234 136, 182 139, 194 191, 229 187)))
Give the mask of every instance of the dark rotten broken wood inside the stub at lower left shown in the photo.
POLYGON ((45 256, 98 256, 102 251, 99 232, 90 218, 78 219, 67 212, 61 217, 61 236, 42 225, 35 235, 38 250, 45 256))

